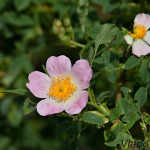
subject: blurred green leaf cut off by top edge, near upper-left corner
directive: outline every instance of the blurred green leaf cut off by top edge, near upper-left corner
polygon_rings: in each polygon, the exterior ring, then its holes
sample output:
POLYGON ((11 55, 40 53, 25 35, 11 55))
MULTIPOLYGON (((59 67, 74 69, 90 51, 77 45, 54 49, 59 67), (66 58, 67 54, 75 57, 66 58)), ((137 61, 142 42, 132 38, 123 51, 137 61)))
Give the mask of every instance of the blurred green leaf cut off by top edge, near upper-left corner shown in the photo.
POLYGON ((26 9, 30 4, 30 0, 14 0, 15 8, 18 11, 26 9))

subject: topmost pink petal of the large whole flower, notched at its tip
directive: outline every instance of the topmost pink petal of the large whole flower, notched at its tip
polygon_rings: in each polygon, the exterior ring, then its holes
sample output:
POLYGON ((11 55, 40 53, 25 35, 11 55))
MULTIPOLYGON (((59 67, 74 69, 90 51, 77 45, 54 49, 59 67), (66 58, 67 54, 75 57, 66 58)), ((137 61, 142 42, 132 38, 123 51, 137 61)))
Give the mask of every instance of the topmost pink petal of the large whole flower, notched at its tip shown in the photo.
POLYGON ((71 61, 64 55, 59 57, 51 56, 47 60, 46 68, 50 77, 63 75, 71 70, 71 61))

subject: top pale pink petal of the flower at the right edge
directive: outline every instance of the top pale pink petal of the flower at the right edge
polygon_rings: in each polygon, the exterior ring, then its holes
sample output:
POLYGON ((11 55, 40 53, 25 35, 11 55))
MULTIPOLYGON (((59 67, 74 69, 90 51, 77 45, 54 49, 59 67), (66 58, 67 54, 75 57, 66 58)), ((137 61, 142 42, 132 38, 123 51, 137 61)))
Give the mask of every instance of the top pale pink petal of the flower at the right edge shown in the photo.
POLYGON ((150 27, 150 15, 149 14, 138 14, 136 15, 135 19, 134 19, 135 25, 136 24, 141 24, 141 25, 145 25, 147 28, 150 27))

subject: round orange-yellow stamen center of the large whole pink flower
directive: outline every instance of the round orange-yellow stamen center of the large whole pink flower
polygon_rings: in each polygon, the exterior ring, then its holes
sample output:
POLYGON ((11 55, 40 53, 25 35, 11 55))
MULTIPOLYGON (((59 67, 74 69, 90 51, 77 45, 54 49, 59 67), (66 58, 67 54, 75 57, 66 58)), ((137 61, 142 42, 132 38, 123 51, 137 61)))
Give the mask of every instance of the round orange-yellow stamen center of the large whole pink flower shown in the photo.
POLYGON ((71 82, 71 76, 63 75, 52 78, 52 83, 47 93, 56 100, 66 101, 76 89, 77 87, 71 82))

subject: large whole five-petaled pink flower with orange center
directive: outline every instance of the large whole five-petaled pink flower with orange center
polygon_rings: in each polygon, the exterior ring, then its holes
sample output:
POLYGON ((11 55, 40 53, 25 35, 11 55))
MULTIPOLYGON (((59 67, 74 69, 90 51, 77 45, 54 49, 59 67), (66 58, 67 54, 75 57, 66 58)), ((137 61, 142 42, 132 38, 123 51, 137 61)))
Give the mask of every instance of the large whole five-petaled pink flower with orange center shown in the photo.
POLYGON ((48 75, 35 71, 29 74, 26 86, 38 98, 37 112, 42 116, 66 111, 80 113, 88 101, 92 69, 87 60, 78 60, 71 66, 66 56, 50 57, 46 63, 48 75))

